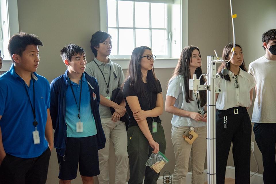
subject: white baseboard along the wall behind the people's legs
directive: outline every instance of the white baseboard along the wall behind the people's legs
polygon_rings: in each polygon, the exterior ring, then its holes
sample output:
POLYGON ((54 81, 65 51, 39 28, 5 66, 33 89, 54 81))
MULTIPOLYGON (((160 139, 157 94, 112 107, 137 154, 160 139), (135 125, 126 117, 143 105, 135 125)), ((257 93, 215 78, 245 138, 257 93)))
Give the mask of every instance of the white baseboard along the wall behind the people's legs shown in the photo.
MULTIPOLYGON (((204 170, 205 174, 205 181, 207 181, 207 169, 204 170)), ((250 172, 250 175, 253 175, 254 172, 250 172)), ((173 177, 173 175, 172 175, 173 177)), ((186 183, 191 183, 191 177, 192 173, 188 172, 186 176, 186 183)), ((225 173, 225 178, 233 178, 235 179, 235 167, 232 166, 227 166, 226 167, 226 173, 225 173)), ((157 184, 162 184, 163 183, 163 176, 160 176, 157 180, 157 184)), ((250 184, 264 184, 262 174, 256 173, 254 176, 250 178, 250 184)))

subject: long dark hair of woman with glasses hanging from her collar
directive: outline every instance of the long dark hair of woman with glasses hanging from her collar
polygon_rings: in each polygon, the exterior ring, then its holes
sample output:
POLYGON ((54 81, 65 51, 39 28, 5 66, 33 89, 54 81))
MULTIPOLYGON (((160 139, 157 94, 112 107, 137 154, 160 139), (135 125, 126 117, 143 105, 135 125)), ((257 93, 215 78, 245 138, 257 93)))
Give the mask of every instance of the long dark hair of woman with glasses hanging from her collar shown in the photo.
MULTIPOLYGON (((235 44, 235 47, 239 47, 241 48, 240 45, 235 44)), ((224 68, 227 68, 228 70, 230 69, 230 62, 226 63, 225 60, 230 59, 231 55, 231 50, 233 48, 233 43, 229 43, 227 44, 224 48, 223 48, 223 52, 222 52, 222 58, 223 58, 223 63, 221 63, 221 66, 218 68, 218 74, 221 75, 222 78, 224 78, 225 80, 228 80, 231 82, 230 76, 227 75, 222 75, 221 70, 224 68)), ((241 48, 242 51, 242 48, 241 48)), ((248 72, 248 70, 246 69, 246 66, 244 64, 244 60, 242 61, 242 64, 239 66, 242 70, 248 72)))

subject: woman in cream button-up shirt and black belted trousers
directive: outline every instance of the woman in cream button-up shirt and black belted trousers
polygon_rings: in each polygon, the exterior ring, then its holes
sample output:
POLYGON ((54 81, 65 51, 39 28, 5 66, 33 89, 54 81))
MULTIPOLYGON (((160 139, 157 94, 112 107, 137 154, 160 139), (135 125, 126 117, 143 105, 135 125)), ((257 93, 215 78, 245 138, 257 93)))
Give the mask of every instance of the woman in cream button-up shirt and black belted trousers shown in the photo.
MULTIPOLYGON (((232 55, 233 43, 223 49, 223 59, 232 55)), ((225 61, 218 68, 221 75, 217 81, 222 93, 216 94, 216 183, 224 184, 225 169, 228 154, 233 143, 233 158, 235 165, 235 184, 250 183, 250 141, 251 120, 247 109, 251 106, 253 76, 248 73, 244 63, 244 55, 238 44, 235 44, 233 58, 225 61), (222 75, 223 68, 229 70, 222 75)))

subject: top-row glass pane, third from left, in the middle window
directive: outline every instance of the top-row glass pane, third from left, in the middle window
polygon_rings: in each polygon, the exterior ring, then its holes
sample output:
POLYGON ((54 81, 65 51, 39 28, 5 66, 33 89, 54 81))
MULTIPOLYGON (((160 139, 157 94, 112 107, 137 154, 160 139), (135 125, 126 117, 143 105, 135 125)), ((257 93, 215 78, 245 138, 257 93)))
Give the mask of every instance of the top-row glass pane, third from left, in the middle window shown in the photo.
POLYGON ((135 2, 135 27, 150 27, 150 3, 135 2))

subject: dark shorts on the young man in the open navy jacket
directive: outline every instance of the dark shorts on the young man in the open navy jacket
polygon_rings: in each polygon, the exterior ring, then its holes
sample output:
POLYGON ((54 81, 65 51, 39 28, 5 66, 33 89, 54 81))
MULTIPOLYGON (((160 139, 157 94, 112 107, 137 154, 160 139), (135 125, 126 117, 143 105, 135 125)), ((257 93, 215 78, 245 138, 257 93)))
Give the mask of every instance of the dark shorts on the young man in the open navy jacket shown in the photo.
POLYGON ((58 178, 72 180, 77 177, 78 163, 82 176, 97 176, 99 171, 98 144, 96 135, 89 137, 67 137, 65 155, 57 155, 58 178))

